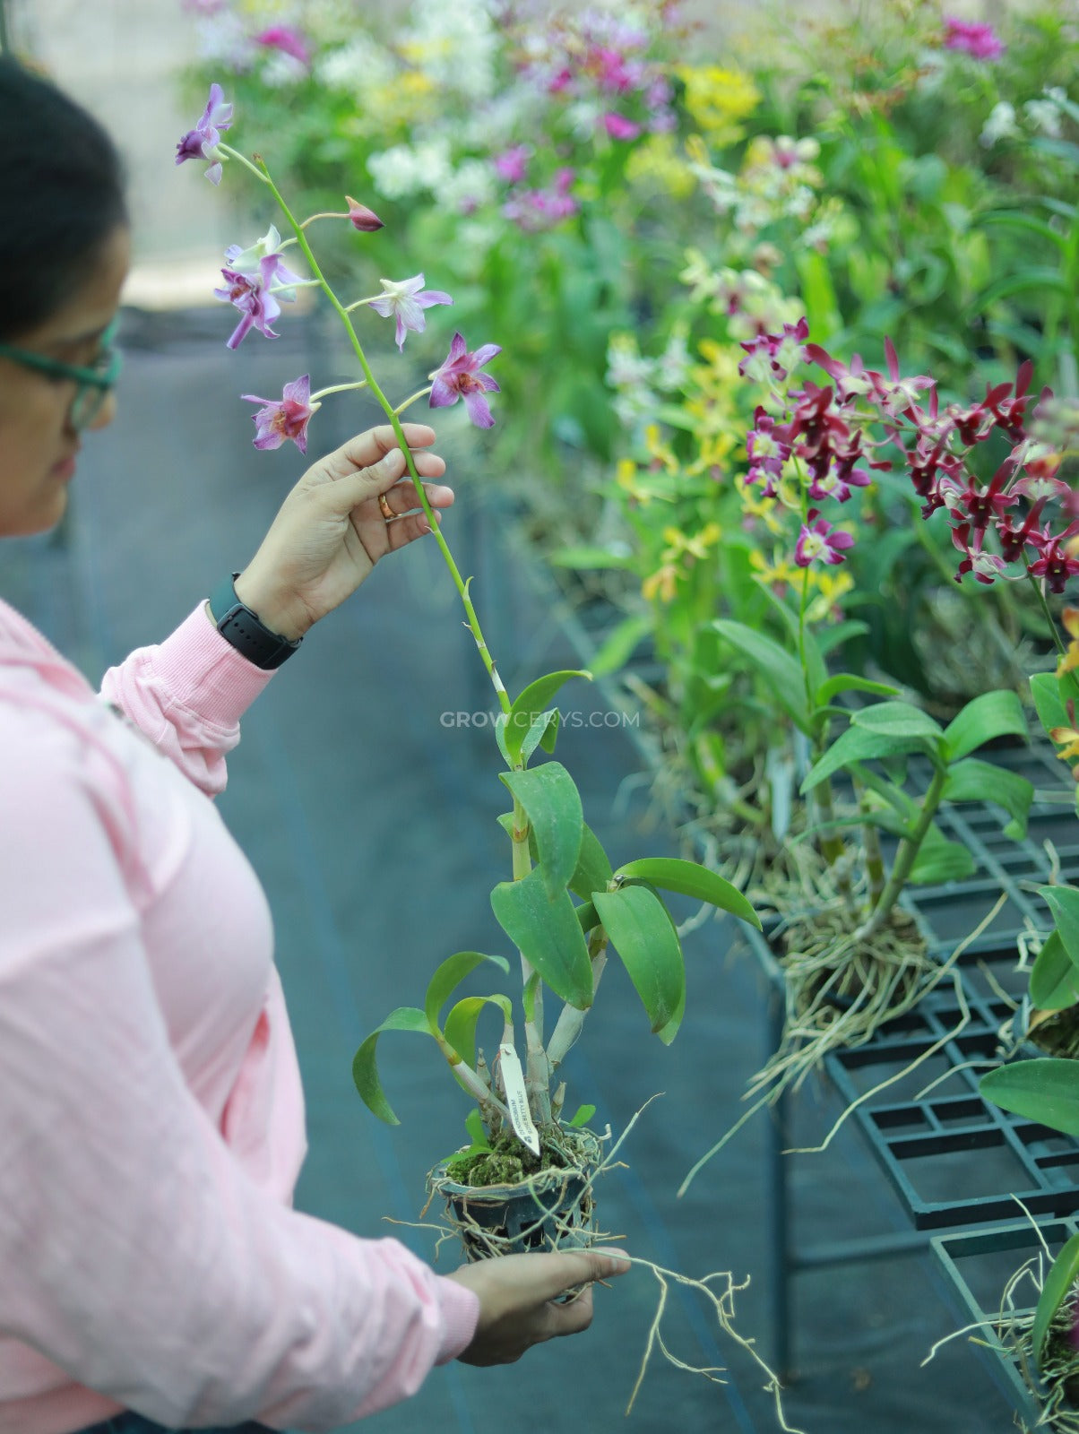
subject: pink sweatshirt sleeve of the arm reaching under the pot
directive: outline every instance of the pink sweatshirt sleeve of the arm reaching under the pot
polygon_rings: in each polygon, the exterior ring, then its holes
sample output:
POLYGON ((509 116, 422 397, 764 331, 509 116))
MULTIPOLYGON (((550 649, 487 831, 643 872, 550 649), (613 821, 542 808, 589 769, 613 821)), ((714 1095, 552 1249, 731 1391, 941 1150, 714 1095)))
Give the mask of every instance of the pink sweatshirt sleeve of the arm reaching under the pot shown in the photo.
POLYGON ((412 1394, 475 1296, 232 1159, 169 1047, 92 776, 46 736, 0 763, 0 1329, 169 1428, 333 1430, 412 1394))

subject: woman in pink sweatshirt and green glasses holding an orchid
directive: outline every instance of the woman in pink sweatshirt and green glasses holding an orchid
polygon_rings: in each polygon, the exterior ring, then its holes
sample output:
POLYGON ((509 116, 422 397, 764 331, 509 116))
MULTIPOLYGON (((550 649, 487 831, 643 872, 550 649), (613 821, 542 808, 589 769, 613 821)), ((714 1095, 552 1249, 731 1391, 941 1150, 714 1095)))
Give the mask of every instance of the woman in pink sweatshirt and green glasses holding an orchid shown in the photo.
MULTIPOLYGON (((62 518, 83 436, 113 416, 128 222, 109 139, 6 59, 0 120, 11 536, 62 518)), ((439 478, 432 430, 405 432, 439 478)), ((0 1434, 331 1430, 435 1364, 585 1328, 590 1289, 554 1296, 628 1268, 590 1252, 436 1276, 290 1207, 303 1097, 270 918, 208 797, 274 668, 426 531, 416 506, 393 430, 352 439, 103 701, 0 602, 0 1434)))

